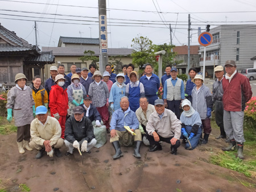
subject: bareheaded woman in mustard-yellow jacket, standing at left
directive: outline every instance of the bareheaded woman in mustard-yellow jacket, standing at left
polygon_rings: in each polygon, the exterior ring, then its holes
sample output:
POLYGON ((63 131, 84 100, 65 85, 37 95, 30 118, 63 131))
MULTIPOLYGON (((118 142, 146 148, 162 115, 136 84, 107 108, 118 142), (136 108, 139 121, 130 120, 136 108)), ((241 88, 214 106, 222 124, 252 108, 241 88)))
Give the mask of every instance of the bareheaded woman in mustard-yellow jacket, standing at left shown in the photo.
POLYGON ((41 82, 41 77, 35 76, 33 78, 32 84, 30 85, 35 101, 35 107, 44 105, 46 108, 48 108, 48 93, 46 89, 44 89, 43 85, 41 85, 41 82))

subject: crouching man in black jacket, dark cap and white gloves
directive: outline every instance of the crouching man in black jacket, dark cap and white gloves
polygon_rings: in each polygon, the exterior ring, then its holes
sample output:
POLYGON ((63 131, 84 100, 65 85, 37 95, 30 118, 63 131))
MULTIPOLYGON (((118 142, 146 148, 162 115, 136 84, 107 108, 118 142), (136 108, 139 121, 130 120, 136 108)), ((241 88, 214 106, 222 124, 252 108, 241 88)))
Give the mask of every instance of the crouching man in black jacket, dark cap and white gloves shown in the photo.
POLYGON ((73 154, 74 148, 80 149, 80 146, 81 152, 90 153, 90 149, 97 143, 94 139, 92 122, 84 116, 82 107, 73 108, 73 114, 65 124, 64 143, 68 147, 66 156, 73 154))

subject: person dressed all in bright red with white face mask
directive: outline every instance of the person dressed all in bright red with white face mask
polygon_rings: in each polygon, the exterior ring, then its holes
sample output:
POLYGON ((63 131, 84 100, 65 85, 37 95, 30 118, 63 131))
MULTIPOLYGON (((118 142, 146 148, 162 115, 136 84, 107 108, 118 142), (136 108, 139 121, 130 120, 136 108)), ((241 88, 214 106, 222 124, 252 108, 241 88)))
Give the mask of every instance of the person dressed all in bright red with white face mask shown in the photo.
POLYGON ((61 127, 61 138, 64 139, 65 122, 68 110, 68 94, 67 87, 65 87, 66 79, 62 74, 55 77, 55 84, 51 87, 49 93, 49 108, 51 116, 59 120, 61 127))

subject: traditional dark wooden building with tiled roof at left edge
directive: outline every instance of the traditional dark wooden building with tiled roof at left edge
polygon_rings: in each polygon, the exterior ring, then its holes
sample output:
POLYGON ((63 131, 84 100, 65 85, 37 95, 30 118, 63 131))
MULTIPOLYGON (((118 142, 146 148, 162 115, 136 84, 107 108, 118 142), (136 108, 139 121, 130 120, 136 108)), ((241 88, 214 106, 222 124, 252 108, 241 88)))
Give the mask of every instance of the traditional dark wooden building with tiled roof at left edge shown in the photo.
POLYGON ((26 40, 18 37, 0 23, 0 83, 7 87, 14 86, 15 75, 24 73, 31 82, 36 75, 43 77, 46 64, 54 63, 52 52, 40 52, 26 40))

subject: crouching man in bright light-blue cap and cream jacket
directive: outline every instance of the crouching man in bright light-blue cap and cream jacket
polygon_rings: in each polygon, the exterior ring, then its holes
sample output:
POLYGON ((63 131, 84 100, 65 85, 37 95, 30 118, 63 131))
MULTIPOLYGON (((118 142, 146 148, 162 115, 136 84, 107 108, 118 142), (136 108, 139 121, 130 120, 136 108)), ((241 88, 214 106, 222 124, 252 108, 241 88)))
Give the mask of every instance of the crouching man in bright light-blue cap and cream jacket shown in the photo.
POLYGON ((36 107, 36 118, 32 120, 30 127, 30 147, 36 149, 39 153, 36 158, 41 158, 44 152, 49 157, 53 157, 53 153, 57 157, 61 157, 61 146, 64 144, 61 136, 61 127, 57 119, 48 116, 48 110, 45 106, 36 107))

